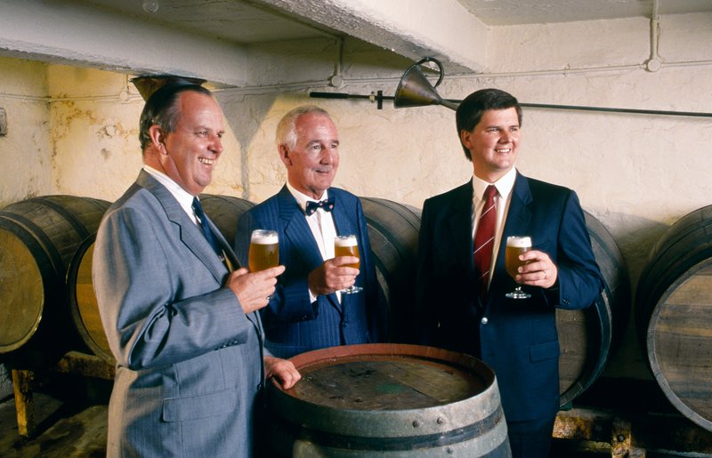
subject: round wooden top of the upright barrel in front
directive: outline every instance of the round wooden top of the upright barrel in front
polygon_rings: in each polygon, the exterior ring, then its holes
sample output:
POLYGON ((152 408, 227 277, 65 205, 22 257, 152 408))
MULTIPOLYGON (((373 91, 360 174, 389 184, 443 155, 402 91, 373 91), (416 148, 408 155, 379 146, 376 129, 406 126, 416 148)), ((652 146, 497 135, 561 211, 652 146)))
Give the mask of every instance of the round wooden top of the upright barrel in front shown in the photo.
POLYGON ((416 345, 386 344, 312 351, 292 358, 302 381, 288 392, 341 409, 442 406, 471 398, 491 383, 491 377, 476 370, 474 358, 453 355, 416 345))

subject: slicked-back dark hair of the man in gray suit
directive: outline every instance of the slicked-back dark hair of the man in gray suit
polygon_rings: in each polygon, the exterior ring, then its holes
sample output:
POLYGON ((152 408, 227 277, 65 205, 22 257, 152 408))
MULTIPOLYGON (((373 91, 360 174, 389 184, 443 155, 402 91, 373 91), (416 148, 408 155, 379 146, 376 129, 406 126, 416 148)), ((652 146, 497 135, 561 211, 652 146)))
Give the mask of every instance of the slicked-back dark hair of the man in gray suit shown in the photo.
POLYGON ((153 92, 149 100, 146 100, 139 122, 139 141, 142 152, 150 145, 149 129, 151 125, 159 125, 164 133, 174 132, 178 118, 181 116, 177 104, 178 95, 186 91, 213 96, 213 92, 199 84, 180 80, 168 83, 153 92))

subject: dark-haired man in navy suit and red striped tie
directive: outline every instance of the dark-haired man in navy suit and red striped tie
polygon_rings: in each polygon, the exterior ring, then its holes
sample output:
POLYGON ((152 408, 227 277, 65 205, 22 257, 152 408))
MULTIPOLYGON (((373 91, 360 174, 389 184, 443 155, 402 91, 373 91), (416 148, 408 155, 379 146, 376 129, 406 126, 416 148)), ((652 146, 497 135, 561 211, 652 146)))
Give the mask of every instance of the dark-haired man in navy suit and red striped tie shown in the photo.
POLYGON ((457 133, 473 179, 425 200, 417 267, 419 341, 472 354, 497 374, 514 457, 546 457, 559 408, 555 309, 583 309, 603 289, 584 214, 570 189, 514 168, 522 108, 507 92, 483 89, 457 108, 457 133), (474 236, 493 185, 491 261, 475 267, 474 236), (529 299, 509 299, 510 236, 533 249, 516 281, 529 299), (488 272, 489 270, 489 272, 488 272))

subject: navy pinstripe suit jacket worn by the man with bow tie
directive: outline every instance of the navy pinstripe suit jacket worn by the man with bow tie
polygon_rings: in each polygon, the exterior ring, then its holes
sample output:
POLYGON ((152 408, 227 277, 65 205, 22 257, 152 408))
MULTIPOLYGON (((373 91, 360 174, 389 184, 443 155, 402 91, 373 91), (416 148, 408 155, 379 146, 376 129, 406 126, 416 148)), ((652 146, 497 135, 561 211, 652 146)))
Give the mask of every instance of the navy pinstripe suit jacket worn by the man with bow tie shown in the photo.
POLYGON ((312 303, 307 275, 324 262, 302 209, 287 187, 262 204, 242 213, 235 238, 235 253, 247 265, 249 239, 253 229, 271 229, 279 234, 279 263, 287 269, 279 277, 270 304, 261 309, 265 346, 280 358, 304 351, 336 345, 380 341, 386 329, 384 301, 376 279, 368 241, 366 218, 358 197, 343 189, 330 188, 336 233, 355 234, 359 240, 360 293, 317 296, 312 303))

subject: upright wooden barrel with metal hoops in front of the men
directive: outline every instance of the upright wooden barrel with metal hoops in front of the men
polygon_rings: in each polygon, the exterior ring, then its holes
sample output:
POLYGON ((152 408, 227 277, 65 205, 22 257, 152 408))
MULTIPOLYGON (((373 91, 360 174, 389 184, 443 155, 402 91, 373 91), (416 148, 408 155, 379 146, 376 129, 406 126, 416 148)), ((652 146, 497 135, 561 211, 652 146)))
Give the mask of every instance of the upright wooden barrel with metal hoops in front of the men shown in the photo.
POLYGON ((447 350, 362 344, 290 359, 268 390, 272 456, 511 456, 497 379, 447 350))

